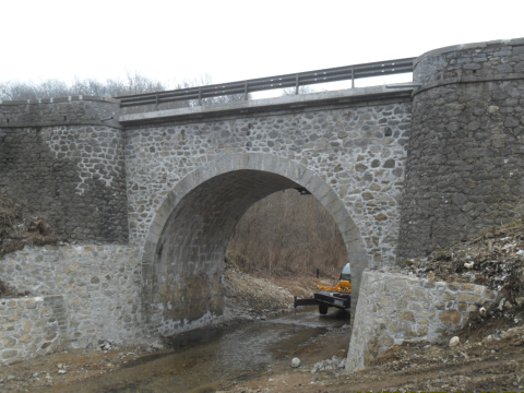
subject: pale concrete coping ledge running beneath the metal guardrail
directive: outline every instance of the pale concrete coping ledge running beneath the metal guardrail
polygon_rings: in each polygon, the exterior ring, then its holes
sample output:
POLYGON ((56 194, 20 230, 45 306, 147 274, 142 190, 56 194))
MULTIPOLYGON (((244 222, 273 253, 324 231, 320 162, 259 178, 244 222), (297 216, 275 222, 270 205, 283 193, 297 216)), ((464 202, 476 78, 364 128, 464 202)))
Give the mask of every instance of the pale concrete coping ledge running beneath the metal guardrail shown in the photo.
POLYGON ((318 107, 322 105, 368 103, 383 99, 402 98, 410 99, 413 88, 386 88, 370 86, 359 88, 340 90, 333 92, 299 94, 276 98, 250 99, 238 103, 214 106, 198 106, 189 108, 157 110, 144 114, 120 115, 121 123, 158 122, 169 119, 204 119, 213 115, 242 115, 265 110, 288 110, 295 108, 318 107))

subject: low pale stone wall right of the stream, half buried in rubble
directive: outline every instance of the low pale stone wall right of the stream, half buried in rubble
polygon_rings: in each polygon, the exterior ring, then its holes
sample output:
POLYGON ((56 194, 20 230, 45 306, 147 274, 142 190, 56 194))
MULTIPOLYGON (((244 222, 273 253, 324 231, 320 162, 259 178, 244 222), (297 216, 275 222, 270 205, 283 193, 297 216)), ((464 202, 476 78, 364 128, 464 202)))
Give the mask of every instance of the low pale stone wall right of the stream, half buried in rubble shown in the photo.
POLYGON ((365 368, 395 344, 434 341, 464 326, 471 312, 498 294, 485 286, 429 282, 365 271, 347 354, 349 372, 365 368))

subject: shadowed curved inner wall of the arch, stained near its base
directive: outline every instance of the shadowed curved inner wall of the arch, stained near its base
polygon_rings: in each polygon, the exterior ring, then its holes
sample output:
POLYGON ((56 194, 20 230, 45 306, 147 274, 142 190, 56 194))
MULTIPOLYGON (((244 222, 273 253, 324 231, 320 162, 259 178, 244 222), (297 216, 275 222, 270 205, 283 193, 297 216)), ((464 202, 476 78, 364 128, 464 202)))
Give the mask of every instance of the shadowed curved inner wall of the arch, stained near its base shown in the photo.
POLYGON ((276 174, 235 170, 203 182, 177 204, 158 241, 153 283, 164 321, 178 321, 170 327, 222 314, 223 261, 236 224, 257 201, 297 187, 276 174))

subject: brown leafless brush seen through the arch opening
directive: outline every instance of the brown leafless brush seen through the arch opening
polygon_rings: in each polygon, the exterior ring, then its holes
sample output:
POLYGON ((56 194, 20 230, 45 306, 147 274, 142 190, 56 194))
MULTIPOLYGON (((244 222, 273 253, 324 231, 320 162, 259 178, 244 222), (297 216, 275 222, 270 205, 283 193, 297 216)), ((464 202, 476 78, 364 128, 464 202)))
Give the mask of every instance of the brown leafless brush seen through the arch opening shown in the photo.
POLYGON ((337 276, 348 261, 341 233, 312 195, 276 192, 242 216, 227 249, 242 271, 337 276))

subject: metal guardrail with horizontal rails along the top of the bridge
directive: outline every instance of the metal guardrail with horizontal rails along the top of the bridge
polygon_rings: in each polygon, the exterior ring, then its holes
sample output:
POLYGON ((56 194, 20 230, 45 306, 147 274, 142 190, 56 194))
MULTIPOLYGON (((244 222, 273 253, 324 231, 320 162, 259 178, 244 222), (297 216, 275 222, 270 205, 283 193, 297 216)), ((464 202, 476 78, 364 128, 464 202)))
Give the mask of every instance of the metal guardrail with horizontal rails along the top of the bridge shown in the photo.
POLYGON ((352 88, 354 88, 356 79, 413 72, 413 61, 416 58, 406 58, 398 60, 379 61, 365 64, 299 72, 295 74, 259 78, 249 81, 219 83, 174 91, 127 95, 115 98, 120 99, 121 107, 131 107, 151 104, 158 105, 163 103, 189 99, 198 99, 201 104, 202 99, 204 98, 219 97, 233 94, 243 94, 245 99, 248 99, 249 93, 287 87, 295 87, 295 93, 298 94, 300 86, 348 80, 352 81, 352 88))

